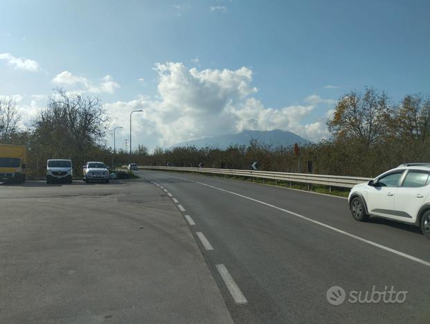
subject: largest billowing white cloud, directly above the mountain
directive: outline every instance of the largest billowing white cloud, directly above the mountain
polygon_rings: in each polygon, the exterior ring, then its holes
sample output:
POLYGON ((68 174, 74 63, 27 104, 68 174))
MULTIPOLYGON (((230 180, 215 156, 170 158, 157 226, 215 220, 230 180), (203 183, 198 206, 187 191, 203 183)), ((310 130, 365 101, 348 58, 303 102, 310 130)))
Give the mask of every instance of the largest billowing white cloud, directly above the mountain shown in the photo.
MULTIPOLYGON (((188 69, 182 63, 156 64, 159 75, 158 96, 140 97, 128 102, 111 102, 105 107, 114 118, 113 124, 128 129, 129 112, 133 115, 133 143, 169 146, 204 136, 241 132, 244 129, 283 129, 311 141, 328 138, 325 119, 304 122, 321 104, 335 100, 312 95, 304 105, 274 109, 265 107, 253 97, 252 71, 188 69), (151 139, 151 140, 150 140, 151 139)), ((323 116, 324 113, 320 114, 323 116)))

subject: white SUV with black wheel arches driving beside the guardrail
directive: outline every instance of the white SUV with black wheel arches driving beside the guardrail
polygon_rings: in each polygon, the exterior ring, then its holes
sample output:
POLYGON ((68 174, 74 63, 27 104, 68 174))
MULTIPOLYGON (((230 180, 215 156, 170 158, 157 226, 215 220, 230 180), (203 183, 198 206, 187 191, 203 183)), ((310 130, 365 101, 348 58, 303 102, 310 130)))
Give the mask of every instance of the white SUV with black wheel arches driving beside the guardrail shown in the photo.
POLYGON ((430 239, 430 163, 407 163, 351 189, 352 217, 369 216, 420 226, 430 239))

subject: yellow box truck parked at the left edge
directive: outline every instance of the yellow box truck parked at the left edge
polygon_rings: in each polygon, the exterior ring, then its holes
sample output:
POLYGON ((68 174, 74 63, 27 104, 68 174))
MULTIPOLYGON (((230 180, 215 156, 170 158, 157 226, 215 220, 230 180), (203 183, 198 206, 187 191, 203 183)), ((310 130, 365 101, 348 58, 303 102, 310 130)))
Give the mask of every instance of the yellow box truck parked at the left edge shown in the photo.
POLYGON ((0 144, 0 182, 26 181, 27 149, 23 145, 0 144))

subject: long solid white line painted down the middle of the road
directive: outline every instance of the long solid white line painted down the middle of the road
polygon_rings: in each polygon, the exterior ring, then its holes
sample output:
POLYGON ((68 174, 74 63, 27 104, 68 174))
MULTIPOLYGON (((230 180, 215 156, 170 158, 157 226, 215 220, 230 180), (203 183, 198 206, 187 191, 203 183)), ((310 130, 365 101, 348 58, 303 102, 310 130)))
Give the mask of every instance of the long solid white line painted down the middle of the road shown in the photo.
POLYGON ((348 232, 343 231, 343 230, 341 230, 341 229, 339 229, 339 228, 336 228, 336 227, 333 227, 333 226, 330 226, 330 225, 327 225, 327 224, 321 223, 321 222, 316 221, 316 220, 314 220, 314 219, 311 219, 311 218, 309 218, 309 217, 306 217, 306 216, 300 215, 300 214, 298 214, 298 213, 294 213, 294 212, 292 212, 292 211, 290 211, 290 210, 287 210, 287 209, 284 209, 284 208, 280 208, 280 207, 278 207, 278 206, 274 206, 274 205, 272 205, 272 204, 268 204, 268 203, 267 203, 267 202, 265 202, 265 201, 260 201, 260 200, 258 200, 258 199, 253 199, 253 198, 248 197, 248 196, 240 195, 240 194, 238 194, 237 192, 233 192, 233 191, 225 190, 225 189, 222 189, 222 188, 217 188, 217 187, 215 187, 215 186, 210 186, 210 185, 208 185, 208 184, 206 184, 206 183, 202 183, 202 182, 199 182, 199 181, 192 181, 192 180, 190 180, 190 179, 185 179, 185 178, 178 178, 178 179, 183 179, 183 180, 188 180, 188 181, 190 181, 190 182, 199 183, 201 186, 206 186, 206 187, 213 188, 213 189, 216 189, 216 190, 220 190, 220 191, 224 191, 224 192, 229 192, 231 195, 236 195, 236 196, 238 196, 238 197, 242 197, 242 198, 244 198, 244 199, 249 199, 249 200, 251 200, 251 201, 258 202, 259 204, 263 204, 263 205, 265 205, 265 206, 269 206, 269 207, 271 207, 271 208, 274 208, 274 209, 277 209, 277 210, 283 211, 284 213, 288 213, 288 214, 290 214, 290 215, 293 215, 293 216, 299 217, 299 218, 301 218, 301 219, 305 219, 305 220, 307 220, 308 222, 312 222, 312 223, 317 224, 317 225, 319 225, 319 226, 323 226, 323 227, 325 227, 325 228, 329 228, 329 229, 331 229, 332 231, 335 231, 335 232, 337 232, 337 233, 341 233, 341 234, 346 235, 346 236, 348 236, 348 237, 352 237, 352 238, 354 238, 355 240, 359 240, 359 241, 361 241, 361 242, 364 242, 364 243, 370 244, 370 245, 372 245, 372 246, 375 246, 375 247, 377 247, 377 248, 379 248, 379 249, 382 249, 382 250, 385 250, 385 251, 388 251, 388 252, 394 253, 394 254, 396 254, 396 255, 400 255, 400 256, 401 256, 401 257, 403 257, 403 258, 406 258, 406 259, 409 259, 409 260, 412 260, 412 261, 418 262, 418 263, 420 263, 420 264, 423 264, 423 265, 425 265, 425 266, 427 266, 427 267, 430 267, 430 262, 428 262, 428 261, 426 261, 426 260, 422 260, 422 259, 420 259, 420 258, 416 258, 416 257, 414 257, 413 255, 409 255, 409 254, 406 254, 406 253, 403 253, 403 252, 397 251, 397 250, 395 250, 395 249, 391 249, 391 248, 389 248, 388 246, 385 246, 385 245, 382 245, 382 244, 379 244, 379 243, 376 243, 376 242, 373 242, 373 241, 370 241, 370 240, 366 240, 366 239, 365 239, 365 238, 363 238, 363 237, 360 237, 360 236, 357 236, 357 235, 354 235, 354 234, 348 233, 348 232))

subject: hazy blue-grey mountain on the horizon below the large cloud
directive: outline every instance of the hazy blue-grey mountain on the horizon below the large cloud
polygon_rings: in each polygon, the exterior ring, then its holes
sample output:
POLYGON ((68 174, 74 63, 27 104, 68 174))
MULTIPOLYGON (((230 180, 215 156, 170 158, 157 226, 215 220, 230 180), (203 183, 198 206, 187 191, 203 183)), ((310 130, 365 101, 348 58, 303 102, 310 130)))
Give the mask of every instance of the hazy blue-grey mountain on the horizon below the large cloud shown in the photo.
POLYGON ((238 134, 226 134, 215 137, 205 137, 196 140, 186 141, 182 143, 177 143, 175 145, 170 146, 173 147, 181 147, 186 145, 195 145, 196 147, 215 147, 220 149, 226 149, 231 144, 238 145, 249 145, 249 141, 251 139, 256 139, 259 143, 271 144, 274 146, 277 145, 294 145, 294 143, 310 143, 307 139, 298 136, 292 132, 285 132, 280 129, 274 129, 271 131, 251 131, 244 130, 238 134))

